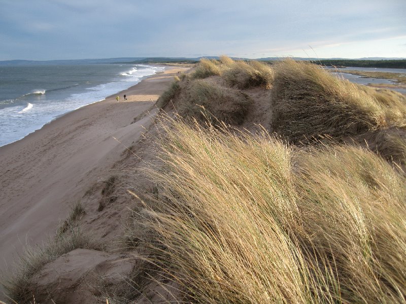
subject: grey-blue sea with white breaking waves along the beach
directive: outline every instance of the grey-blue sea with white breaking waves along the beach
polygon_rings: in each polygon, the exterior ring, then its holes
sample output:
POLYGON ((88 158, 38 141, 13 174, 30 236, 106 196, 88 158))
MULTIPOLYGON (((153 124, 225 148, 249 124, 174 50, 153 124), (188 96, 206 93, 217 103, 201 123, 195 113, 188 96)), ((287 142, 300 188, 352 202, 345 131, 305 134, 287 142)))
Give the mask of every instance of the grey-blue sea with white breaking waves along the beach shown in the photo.
POLYGON ((164 69, 148 64, 82 61, 0 64, 0 147, 164 69))

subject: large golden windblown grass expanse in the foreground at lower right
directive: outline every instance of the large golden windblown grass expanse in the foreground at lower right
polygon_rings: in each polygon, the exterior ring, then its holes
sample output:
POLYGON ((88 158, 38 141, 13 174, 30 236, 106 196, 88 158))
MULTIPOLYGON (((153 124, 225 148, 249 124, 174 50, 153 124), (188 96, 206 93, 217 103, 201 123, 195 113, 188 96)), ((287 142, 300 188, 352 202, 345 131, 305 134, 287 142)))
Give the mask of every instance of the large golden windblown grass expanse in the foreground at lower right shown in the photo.
POLYGON ((405 301, 405 177, 385 160, 350 146, 296 151, 266 131, 163 128, 150 228, 185 299, 405 301))

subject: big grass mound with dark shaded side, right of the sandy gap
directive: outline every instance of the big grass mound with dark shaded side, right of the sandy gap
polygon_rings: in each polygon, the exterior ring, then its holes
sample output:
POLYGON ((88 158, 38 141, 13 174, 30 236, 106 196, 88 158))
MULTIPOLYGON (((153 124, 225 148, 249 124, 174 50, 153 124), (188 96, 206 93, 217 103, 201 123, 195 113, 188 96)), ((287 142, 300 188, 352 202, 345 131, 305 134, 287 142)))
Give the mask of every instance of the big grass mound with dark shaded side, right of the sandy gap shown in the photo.
POLYGON ((285 60, 275 66, 272 127, 297 142, 323 134, 340 139, 404 125, 404 103, 390 100, 337 79, 315 64, 285 60), (401 110, 393 111, 388 103, 397 103, 401 110))

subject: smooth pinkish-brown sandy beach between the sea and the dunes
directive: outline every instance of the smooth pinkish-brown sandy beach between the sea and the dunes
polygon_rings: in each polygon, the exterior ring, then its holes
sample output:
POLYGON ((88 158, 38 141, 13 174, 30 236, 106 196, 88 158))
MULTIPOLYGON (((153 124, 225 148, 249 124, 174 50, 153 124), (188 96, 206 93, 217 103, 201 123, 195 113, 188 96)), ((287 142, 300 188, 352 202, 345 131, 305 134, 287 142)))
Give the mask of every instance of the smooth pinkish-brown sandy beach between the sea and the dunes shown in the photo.
POLYGON ((10 267, 27 244, 39 245, 55 233, 86 189, 151 124, 154 104, 173 76, 187 69, 167 66, 0 148, 0 269, 10 267))

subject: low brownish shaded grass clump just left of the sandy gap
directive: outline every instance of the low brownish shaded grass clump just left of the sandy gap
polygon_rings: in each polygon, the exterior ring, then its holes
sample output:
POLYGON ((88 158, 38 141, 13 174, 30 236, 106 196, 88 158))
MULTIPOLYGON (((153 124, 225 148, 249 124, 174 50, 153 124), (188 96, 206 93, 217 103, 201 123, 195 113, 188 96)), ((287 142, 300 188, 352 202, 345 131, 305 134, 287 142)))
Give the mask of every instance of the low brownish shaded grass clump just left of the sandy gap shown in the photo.
POLYGON ((183 117, 195 117, 228 124, 241 124, 247 114, 250 98, 241 92, 231 92, 214 83, 192 80, 175 105, 183 117))

